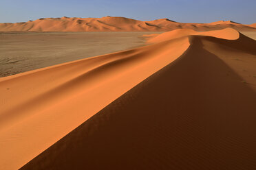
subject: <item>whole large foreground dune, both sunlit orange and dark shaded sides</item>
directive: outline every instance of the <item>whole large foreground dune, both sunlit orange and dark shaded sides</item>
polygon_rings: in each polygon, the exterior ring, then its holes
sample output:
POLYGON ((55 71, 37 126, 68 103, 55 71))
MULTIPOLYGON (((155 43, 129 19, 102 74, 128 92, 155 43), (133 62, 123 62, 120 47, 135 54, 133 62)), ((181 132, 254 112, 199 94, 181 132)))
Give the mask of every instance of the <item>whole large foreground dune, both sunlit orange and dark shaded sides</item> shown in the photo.
POLYGON ((255 169, 255 40, 167 35, 0 78, 0 169, 255 169))

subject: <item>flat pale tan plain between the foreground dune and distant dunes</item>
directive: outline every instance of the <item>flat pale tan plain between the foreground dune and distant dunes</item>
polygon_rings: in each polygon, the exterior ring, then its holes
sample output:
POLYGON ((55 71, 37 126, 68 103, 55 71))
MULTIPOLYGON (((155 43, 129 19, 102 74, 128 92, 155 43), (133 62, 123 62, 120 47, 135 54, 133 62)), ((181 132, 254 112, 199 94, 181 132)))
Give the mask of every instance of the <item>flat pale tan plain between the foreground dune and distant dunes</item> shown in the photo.
POLYGON ((149 33, 0 33, 0 77, 139 47, 143 34, 149 33))

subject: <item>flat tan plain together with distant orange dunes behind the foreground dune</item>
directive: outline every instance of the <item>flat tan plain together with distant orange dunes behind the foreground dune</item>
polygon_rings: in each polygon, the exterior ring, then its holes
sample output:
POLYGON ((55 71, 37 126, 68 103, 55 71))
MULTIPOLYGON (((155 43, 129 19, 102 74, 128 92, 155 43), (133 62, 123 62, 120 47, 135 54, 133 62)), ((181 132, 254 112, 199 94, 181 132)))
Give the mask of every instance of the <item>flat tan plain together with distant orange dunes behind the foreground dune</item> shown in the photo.
POLYGON ((169 19, 137 21, 107 16, 0 23, 0 77, 140 47, 145 45, 149 34, 174 29, 205 32, 227 27, 256 38, 255 24, 243 25, 233 21, 178 23, 169 19))

